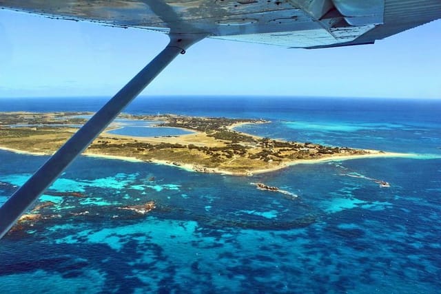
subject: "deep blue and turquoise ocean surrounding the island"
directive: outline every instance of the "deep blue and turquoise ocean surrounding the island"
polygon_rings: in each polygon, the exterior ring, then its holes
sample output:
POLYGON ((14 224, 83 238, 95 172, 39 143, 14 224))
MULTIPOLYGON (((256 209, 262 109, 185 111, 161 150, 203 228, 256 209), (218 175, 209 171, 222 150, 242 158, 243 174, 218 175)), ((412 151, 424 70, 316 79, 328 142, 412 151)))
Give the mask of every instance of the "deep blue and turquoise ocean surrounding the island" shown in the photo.
MULTIPOLYGON (((104 101, 2 98, 0 111, 104 101)), ((125 112, 263 118, 237 130, 413 155, 249 177, 81 156, 41 196, 45 216, 0 240, 0 293, 439 293, 441 101, 139 97, 125 112)), ((0 204, 47 158, 0 150, 0 204)))

